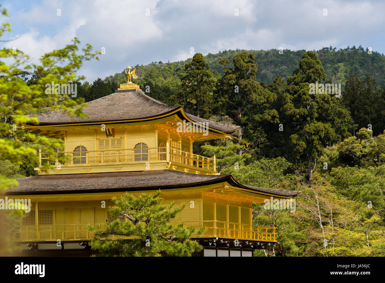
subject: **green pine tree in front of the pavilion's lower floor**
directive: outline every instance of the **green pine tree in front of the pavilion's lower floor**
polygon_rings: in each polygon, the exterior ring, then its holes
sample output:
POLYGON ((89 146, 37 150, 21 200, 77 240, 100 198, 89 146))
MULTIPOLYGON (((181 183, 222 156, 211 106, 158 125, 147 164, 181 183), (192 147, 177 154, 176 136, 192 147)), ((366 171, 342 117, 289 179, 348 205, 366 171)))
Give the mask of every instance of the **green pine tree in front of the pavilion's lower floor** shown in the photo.
POLYGON ((89 231, 95 232, 91 240, 92 250, 100 256, 191 256, 202 250, 191 236, 201 235, 204 228, 197 230, 184 223, 173 225, 172 219, 185 205, 174 207, 174 203, 161 204, 160 191, 134 196, 126 193, 114 198, 114 206, 109 213, 116 216, 105 224, 105 229, 89 225, 89 231), (126 219, 127 221, 123 221, 126 219), (129 239, 110 239, 110 235, 127 236, 129 239))

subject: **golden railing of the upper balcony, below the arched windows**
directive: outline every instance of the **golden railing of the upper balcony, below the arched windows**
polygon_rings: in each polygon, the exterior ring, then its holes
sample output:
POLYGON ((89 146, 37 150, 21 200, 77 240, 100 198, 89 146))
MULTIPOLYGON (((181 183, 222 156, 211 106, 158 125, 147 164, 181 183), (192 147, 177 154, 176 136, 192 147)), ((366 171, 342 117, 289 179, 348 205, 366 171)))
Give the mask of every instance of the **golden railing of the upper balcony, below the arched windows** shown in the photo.
POLYGON ((44 164, 68 166, 89 166, 128 163, 171 162, 187 168, 200 168, 216 171, 215 155, 213 158, 189 153, 176 148, 148 147, 113 150, 87 150, 58 152, 52 158, 49 153, 39 150, 39 168, 44 164))

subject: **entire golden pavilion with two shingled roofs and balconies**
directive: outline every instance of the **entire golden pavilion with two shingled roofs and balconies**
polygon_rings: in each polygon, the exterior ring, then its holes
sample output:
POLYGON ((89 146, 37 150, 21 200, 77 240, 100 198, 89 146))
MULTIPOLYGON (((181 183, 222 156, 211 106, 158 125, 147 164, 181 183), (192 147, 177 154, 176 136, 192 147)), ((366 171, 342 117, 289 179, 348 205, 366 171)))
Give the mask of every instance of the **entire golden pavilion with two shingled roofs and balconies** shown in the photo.
POLYGON ((23 126, 62 138, 57 158, 70 156, 58 164, 40 150, 38 175, 17 179, 19 185, 7 191, 8 198, 32 203, 12 235, 23 255, 90 255, 87 224, 102 227, 116 217, 108 212, 112 197, 159 189, 164 202, 186 204, 175 222, 207 228, 194 238, 204 246, 199 256, 253 256, 276 244, 275 227, 252 225, 252 206, 300 191, 242 185, 216 173, 215 156, 192 152, 194 141, 236 139, 230 133, 239 127, 187 114, 134 83, 86 104, 85 119, 59 110, 35 115, 39 125, 23 126), (180 131, 181 123, 207 131, 180 131), (43 171, 45 164, 52 169, 43 171))

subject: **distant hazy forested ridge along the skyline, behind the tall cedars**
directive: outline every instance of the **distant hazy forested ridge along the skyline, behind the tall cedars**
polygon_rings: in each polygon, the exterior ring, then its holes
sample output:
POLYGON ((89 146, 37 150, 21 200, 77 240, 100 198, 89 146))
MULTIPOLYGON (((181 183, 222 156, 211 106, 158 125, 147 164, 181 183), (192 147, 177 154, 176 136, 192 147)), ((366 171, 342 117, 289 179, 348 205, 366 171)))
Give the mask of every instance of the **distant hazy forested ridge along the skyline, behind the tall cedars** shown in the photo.
MULTIPOLYGON (((225 50, 217 54, 204 56, 204 60, 208 63, 211 71, 217 71, 219 75, 223 75, 223 66, 219 64, 220 60, 230 60, 241 52, 247 51, 253 53, 258 64, 256 72, 256 80, 269 84, 273 81, 276 75, 282 78, 288 78, 293 74, 293 71, 298 68, 298 61, 301 59, 306 50, 225 50)), ((368 48, 364 49, 359 46, 356 48, 347 47, 345 49, 337 50, 336 47, 325 47, 316 51, 318 58, 321 60, 323 68, 325 69, 326 79, 333 81, 333 83, 344 83, 349 75, 356 75, 360 80, 366 77, 372 77, 376 80, 378 86, 385 87, 385 57, 383 54, 372 51, 371 54, 368 48)), ((173 71, 170 70, 170 63, 153 62, 149 65, 137 65, 137 74, 139 81, 147 78, 157 78, 167 80, 170 73, 181 77, 184 65, 190 63, 192 59, 185 61, 172 62, 173 71)), ((231 65, 233 67, 233 65, 231 65)), ((121 83, 124 78, 124 72, 116 73, 115 75, 106 78, 107 81, 114 83, 121 83)), ((124 81, 124 80, 123 80, 124 81)))

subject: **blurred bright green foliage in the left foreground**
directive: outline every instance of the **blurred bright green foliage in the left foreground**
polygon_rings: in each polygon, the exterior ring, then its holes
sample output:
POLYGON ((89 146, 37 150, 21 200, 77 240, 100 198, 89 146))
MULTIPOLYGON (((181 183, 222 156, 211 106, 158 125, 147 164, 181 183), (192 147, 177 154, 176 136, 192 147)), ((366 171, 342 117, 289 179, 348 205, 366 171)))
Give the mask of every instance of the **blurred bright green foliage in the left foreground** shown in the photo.
MULTIPOLYGON (((7 11, 2 10, 2 15, 7 16, 7 11)), ((10 32, 10 23, 3 23, 0 27, 0 36, 10 32)), ((38 64, 28 64, 29 56, 22 50, 13 50, 3 47, 0 50, 0 160, 8 167, 7 162, 13 166, 20 166, 28 160, 30 163, 37 162, 37 150, 42 147, 49 151, 51 159, 54 158, 54 151, 62 148, 62 141, 37 136, 28 130, 20 127, 26 123, 37 123, 36 117, 25 116, 25 114, 35 114, 39 111, 62 109, 69 115, 84 117, 82 112, 82 99, 70 99, 60 93, 50 93, 47 95, 45 89, 47 84, 70 83, 83 80, 83 76, 77 75, 77 70, 82 63, 91 60, 100 52, 91 53, 92 47, 86 45, 82 54, 79 52, 79 40, 75 38, 71 44, 65 48, 46 53, 40 58, 38 64), (23 78, 24 76, 24 78, 23 78), (25 76, 31 77, 33 83, 26 82, 25 76)), ((96 57, 97 58, 97 57, 96 57)), ((45 165, 42 170, 49 167, 45 165)), ((10 178, 14 174, 5 171, 0 175, 0 192, 6 191, 12 186, 17 186, 17 181, 10 178)), ((3 210, 0 211, 3 214, 3 210)), ((0 254, 8 255, 12 250, 9 239, 5 236, 5 231, 11 231, 10 222, 4 215, 0 215, 0 254)), ((10 219, 10 218, 8 218, 10 219)))

